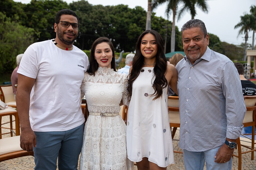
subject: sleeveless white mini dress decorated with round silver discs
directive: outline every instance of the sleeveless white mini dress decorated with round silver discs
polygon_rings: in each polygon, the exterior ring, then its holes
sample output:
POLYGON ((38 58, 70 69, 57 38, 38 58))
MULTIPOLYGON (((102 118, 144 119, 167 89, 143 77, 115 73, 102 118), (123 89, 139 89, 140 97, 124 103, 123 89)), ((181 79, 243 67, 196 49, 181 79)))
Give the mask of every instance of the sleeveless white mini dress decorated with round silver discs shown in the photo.
POLYGON ((133 162, 147 157, 159 167, 174 163, 173 144, 167 108, 167 88, 153 100, 154 67, 142 67, 133 82, 127 114, 127 155, 133 162))

